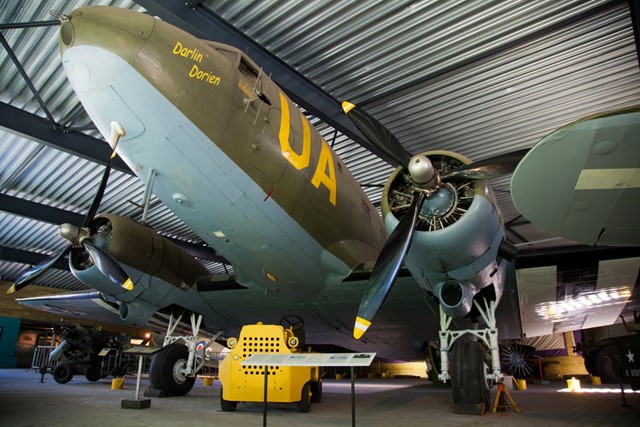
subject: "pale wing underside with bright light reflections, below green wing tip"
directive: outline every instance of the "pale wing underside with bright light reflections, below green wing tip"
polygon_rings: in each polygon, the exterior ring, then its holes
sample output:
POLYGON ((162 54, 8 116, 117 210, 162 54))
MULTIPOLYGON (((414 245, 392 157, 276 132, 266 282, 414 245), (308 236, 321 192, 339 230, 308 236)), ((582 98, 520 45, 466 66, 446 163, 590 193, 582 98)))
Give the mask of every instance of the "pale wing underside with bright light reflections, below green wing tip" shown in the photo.
POLYGON ((516 266, 526 337, 607 326, 640 309, 640 247, 530 251, 516 266))

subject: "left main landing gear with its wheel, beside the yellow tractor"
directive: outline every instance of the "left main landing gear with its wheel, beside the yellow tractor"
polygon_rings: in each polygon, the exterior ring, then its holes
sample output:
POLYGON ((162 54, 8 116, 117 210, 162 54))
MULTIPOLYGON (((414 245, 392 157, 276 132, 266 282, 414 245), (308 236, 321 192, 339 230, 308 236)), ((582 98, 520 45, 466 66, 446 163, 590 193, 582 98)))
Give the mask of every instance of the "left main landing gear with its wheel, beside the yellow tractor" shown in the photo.
POLYGON ((196 346, 202 315, 196 316, 191 313, 192 335, 173 335, 180 320, 182 320, 182 315, 174 319, 172 314, 169 318, 169 327, 164 338, 163 348, 151 359, 151 367, 149 368, 151 390, 146 392, 145 396, 184 396, 189 393, 195 383, 196 374, 206 362, 206 349, 213 345, 216 338, 222 334, 219 332, 209 340, 202 354, 197 354, 196 346), (178 343, 180 340, 184 343, 178 343))

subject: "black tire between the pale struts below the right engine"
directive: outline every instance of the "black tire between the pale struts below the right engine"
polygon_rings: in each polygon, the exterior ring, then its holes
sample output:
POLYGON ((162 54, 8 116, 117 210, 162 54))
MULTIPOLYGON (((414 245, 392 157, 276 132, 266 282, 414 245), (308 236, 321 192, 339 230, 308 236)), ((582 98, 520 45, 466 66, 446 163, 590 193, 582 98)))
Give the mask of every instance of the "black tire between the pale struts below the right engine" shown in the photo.
POLYGON ((454 404, 484 404, 489 410, 484 348, 478 342, 459 341, 451 351, 451 390, 454 404))

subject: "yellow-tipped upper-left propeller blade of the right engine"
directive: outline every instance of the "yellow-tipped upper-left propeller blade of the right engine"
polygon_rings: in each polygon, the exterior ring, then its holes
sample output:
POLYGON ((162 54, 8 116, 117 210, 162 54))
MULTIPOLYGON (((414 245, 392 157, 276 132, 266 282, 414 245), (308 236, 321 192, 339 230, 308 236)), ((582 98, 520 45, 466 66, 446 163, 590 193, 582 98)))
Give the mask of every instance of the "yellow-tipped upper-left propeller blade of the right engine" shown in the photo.
POLYGON ((386 153, 398 165, 407 167, 411 154, 382 123, 350 102, 342 103, 342 110, 360 132, 380 151, 386 153))

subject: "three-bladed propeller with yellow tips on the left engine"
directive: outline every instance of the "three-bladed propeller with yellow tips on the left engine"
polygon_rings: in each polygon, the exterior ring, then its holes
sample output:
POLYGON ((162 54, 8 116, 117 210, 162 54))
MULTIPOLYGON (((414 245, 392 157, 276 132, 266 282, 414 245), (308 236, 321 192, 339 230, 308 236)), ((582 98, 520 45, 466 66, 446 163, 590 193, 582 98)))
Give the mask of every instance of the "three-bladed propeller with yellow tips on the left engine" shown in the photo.
POLYGON ((60 236, 67 239, 71 244, 27 270, 18 278, 18 280, 15 281, 13 285, 11 285, 7 290, 7 295, 19 291, 27 286, 27 284, 40 277, 56 262, 58 262, 58 260, 67 255, 73 248, 84 248, 84 250, 89 254, 91 261, 93 261, 102 274, 107 276, 112 282, 117 283, 127 290, 133 289, 133 282, 120 264, 118 264, 118 261, 116 261, 109 253, 92 243, 91 231, 89 229, 89 225, 98 211, 98 207, 102 201, 102 196, 104 195, 104 191, 107 187, 107 181, 109 180, 109 174, 111 172, 111 163, 116 157, 116 147, 118 146, 120 138, 124 135, 125 131, 122 126, 118 122, 111 122, 109 145, 113 149, 113 152, 109 157, 109 161, 107 162, 102 175, 102 180, 100 181, 100 186, 98 187, 98 191, 93 198, 93 201, 91 202, 91 206, 89 207, 89 211, 82 222, 82 226, 78 228, 71 224, 62 224, 58 228, 60 236))

